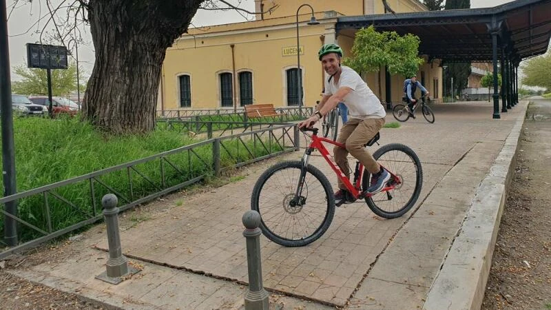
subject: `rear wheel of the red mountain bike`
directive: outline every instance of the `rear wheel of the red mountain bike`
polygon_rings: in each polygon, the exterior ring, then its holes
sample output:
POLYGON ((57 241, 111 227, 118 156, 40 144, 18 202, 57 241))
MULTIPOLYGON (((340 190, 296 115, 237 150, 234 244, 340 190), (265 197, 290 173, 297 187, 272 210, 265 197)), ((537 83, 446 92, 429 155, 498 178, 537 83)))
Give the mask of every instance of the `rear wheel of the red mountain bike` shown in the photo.
MULTIPOLYGON (((423 184, 423 169, 419 157, 413 149, 400 143, 383 145, 373 153, 373 158, 388 171, 402 178, 402 184, 387 192, 380 192, 366 197, 366 203, 377 216, 397 218, 409 211, 417 202, 423 184), (415 181, 412 186, 411 182, 415 181), (388 195, 392 198, 388 199, 388 195), (404 203, 405 202, 405 203, 404 203)), ((364 172, 362 186, 369 187, 370 174, 364 172)))

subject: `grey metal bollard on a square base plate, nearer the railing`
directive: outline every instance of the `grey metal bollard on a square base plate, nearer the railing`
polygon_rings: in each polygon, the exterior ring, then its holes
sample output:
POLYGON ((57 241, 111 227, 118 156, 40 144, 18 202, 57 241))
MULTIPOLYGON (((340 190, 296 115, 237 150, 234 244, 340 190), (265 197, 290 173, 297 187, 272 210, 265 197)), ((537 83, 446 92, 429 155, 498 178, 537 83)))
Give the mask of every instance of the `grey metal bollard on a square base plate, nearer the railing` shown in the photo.
POLYGON ((131 276, 139 270, 128 267, 128 260, 123 255, 121 248, 121 236, 118 233, 118 198, 114 194, 107 194, 101 198, 103 216, 107 225, 107 243, 109 244, 109 260, 107 270, 96 276, 96 279, 118 285, 123 282, 125 276, 131 276))

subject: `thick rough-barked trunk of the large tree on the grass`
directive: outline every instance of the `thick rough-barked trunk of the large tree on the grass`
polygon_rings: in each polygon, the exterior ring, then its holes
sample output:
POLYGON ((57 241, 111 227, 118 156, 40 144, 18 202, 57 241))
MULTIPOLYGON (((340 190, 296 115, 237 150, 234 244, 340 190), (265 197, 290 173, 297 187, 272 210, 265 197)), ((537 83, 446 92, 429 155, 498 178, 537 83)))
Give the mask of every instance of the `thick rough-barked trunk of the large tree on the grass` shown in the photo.
POLYGON ((82 117, 114 134, 153 130, 166 49, 187 31, 202 1, 90 0, 96 63, 82 117))

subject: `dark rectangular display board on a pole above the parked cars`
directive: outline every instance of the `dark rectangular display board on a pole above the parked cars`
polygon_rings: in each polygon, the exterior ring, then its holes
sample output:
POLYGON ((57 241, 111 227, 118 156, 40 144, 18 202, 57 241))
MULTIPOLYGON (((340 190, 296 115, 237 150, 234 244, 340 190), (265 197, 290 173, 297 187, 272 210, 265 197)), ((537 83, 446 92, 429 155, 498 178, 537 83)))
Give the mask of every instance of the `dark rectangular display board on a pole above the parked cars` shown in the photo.
POLYGON ((28 68, 67 69, 65 46, 27 43, 28 68))

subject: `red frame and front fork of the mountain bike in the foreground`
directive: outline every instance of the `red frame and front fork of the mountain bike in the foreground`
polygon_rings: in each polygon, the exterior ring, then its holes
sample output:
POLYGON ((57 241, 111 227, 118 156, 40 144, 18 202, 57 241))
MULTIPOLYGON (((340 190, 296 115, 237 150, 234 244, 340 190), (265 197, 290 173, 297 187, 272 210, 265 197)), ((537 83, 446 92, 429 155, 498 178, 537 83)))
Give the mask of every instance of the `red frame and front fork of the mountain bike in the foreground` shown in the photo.
MULTIPOLYGON (((337 163, 335 163, 335 161, 333 161, 333 158, 332 158, 331 154, 329 154, 329 151, 323 145, 323 142, 330 143, 332 145, 337 145, 338 147, 343 147, 343 148, 345 147, 344 144, 335 142, 335 141, 330 140, 328 138, 318 136, 318 130, 317 129, 314 129, 314 130, 313 129, 306 129, 304 131, 311 131, 311 132, 313 132, 313 134, 311 135, 312 141, 310 142, 309 146, 304 151, 304 155, 302 156, 302 170, 301 170, 301 173, 300 173, 300 181, 298 183, 299 185, 298 185, 298 188, 297 188, 296 197, 301 197, 300 194, 302 194, 302 185, 304 185, 304 178, 306 177, 306 166, 308 166, 309 156, 312 154, 312 152, 315 149, 318 149, 318 151, 320 152, 320 154, 322 154, 325 161, 329 164, 331 169, 333 169, 333 172, 335 172, 335 174, 337 174, 337 178, 342 180, 344 185, 346 185, 346 189, 349 190, 349 192, 354 196, 355 199, 362 199, 362 198, 373 196, 373 194, 371 194, 371 193, 365 193, 365 192, 362 192, 360 190, 360 189, 362 189, 362 178, 364 176, 364 165, 362 165, 362 163, 359 163, 358 169, 357 169, 358 176, 355 176, 355 183, 354 184, 351 183, 349 178, 346 178, 346 175, 344 174, 344 172, 342 172, 342 170, 337 165, 337 163)), ((381 168, 386 169, 382 165, 381 165, 381 168)), ((388 171, 388 169, 386 169, 386 171, 388 171)), ((391 172, 391 171, 388 171, 388 173, 391 174, 391 180, 393 180, 393 182, 389 185, 386 185, 381 190, 381 192, 387 192, 387 194, 388 194, 389 190, 394 189, 397 185, 402 183, 402 180, 401 180, 401 178, 399 178, 399 176, 397 176, 396 174, 393 174, 393 172, 391 172)), ((390 195, 390 194, 388 194, 388 195, 390 195)))

